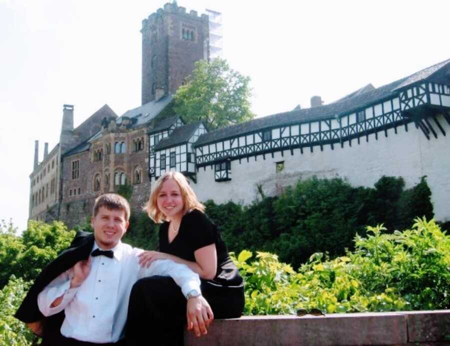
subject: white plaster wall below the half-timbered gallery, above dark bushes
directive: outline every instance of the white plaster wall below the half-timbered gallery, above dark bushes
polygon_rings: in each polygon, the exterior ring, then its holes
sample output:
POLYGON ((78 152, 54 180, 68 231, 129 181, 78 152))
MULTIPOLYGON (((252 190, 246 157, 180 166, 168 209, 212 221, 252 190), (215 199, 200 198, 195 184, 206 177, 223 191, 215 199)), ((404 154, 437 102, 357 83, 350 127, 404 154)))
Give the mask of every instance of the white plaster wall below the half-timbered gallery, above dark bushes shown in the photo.
POLYGON ((420 129, 416 129, 413 123, 408 124, 408 132, 404 126, 397 127, 397 134, 393 129, 369 135, 366 142, 365 136, 361 137, 360 144, 357 140, 323 147, 295 149, 293 155, 289 150, 258 155, 254 157, 231 161, 232 180, 225 182, 214 181, 214 168, 211 166, 199 168, 197 183, 191 184, 200 200, 212 199, 216 203, 229 200, 248 204, 258 197, 257 184, 262 185, 266 195, 275 195, 282 191, 282 187, 293 185, 298 179, 316 175, 322 177, 341 177, 348 180, 353 186, 372 187, 382 176, 401 176, 405 180, 405 188, 417 184, 421 176, 426 175, 428 186, 431 189, 431 200, 434 207, 436 220, 450 220, 450 126, 438 116, 438 121, 446 132, 446 136, 437 129, 437 139, 431 135, 427 140, 420 129), (284 161, 284 169, 276 173, 275 162, 284 161))

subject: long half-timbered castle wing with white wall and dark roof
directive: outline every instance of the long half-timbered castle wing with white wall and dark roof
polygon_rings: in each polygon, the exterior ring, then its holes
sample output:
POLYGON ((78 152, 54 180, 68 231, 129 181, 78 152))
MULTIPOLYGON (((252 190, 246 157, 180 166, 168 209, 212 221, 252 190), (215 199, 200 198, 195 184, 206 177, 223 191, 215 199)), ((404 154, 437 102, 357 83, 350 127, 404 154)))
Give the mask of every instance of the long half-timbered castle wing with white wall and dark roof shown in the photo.
MULTIPOLYGON (((436 218, 448 220, 449 132, 446 60, 326 105, 206 132, 193 144, 196 175, 189 174, 201 200, 219 203, 249 203, 261 191, 275 195, 313 175, 339 176, 362 186, 372 186, 382 175, 402 176, 407 187, 426 175, 436 218)), ((166 148, 161 146, 169 155, 166 148)), ((165 167, 177 169, 168 159, 165 167)))

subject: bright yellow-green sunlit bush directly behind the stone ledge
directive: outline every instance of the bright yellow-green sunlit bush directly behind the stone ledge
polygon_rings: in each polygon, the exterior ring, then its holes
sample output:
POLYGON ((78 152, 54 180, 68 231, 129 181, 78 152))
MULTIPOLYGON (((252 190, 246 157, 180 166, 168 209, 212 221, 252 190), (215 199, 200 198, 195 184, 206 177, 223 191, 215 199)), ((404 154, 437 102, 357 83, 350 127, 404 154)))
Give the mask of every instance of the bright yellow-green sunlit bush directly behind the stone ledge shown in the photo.
POLYGON ((354 252, 329 260, 313 254, 297 272, 277 256, 242 251, 234 262, 245 278, 245 314, 433 310, 450 308, 450 236, 432 220, 410 230, 367 227, 354 252))

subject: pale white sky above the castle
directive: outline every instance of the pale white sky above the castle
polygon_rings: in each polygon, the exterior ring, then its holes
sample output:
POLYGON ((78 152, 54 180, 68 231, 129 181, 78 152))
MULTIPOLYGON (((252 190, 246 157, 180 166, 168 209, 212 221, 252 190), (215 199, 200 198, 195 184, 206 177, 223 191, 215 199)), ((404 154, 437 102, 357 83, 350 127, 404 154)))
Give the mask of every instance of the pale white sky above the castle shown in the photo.
MULTIPOLYGON (((103 104, 140 105, 141 21, 164 1, 0 0, 0 219, 23 230, 34 140, 57 144, 62 105, 75 126, 103 104)), ((179 0, 223 15, 223 57, 251 77, 264 116, 332 102, 450 58, 450 2, 179 0)))

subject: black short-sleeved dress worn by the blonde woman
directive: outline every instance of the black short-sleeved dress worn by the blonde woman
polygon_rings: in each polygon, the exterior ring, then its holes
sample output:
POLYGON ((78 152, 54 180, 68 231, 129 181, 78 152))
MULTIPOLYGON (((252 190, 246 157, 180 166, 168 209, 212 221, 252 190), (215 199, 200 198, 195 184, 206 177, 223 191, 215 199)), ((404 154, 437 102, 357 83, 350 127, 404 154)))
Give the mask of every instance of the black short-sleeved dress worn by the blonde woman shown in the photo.
MULTIPOLYGON (((201 280, 201 294, 214 319, 237 318, 244 308, 243 280, 228 256, 217 227, 198 210, 181 219, 178 234, 168 242, 168 223, 159 230, 159 251, 195 262, 194 252, 215 244, 217 271, 201 280)), ((130 294, 125 339, 127 345, 182 345, 186 299, 173 279, 153 276, 137 281, 130 294)))

